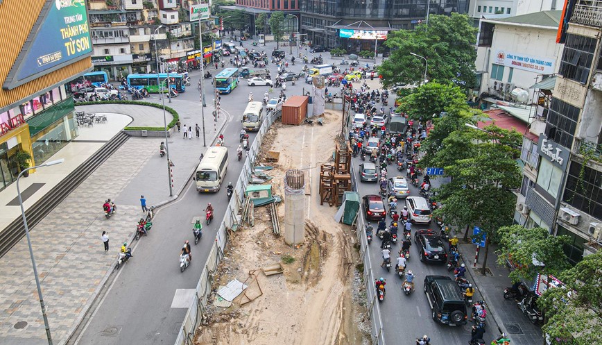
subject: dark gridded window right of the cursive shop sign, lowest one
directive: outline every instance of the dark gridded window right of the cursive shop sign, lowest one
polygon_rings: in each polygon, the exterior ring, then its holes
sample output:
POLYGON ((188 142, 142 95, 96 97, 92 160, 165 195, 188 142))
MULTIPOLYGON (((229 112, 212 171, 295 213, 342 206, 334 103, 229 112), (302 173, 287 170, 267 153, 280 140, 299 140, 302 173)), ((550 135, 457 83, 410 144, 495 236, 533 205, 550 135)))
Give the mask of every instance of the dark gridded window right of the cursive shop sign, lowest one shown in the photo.
POLYGON ((581 165, 571 160, 562 201, 602 220, 602 172, 586 166, 583 179, 580 173, 581 165))

